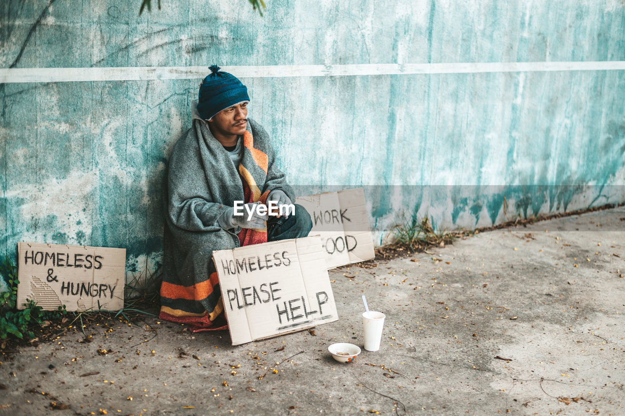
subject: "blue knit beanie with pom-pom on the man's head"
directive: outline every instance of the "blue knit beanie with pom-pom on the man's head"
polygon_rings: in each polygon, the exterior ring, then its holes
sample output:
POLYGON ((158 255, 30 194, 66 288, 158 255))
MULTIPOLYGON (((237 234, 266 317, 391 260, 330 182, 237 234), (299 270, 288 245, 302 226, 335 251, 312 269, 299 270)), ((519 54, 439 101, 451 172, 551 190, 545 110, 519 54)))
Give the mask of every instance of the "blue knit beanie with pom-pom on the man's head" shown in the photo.
POLYGON ((216 65, 209 69, 211 73, 204 78, 197 94, 197 112, 202 119, 210 120, 219 111, 249 101, 247 87, 236 76, 219 71, 221 68, 216 65))

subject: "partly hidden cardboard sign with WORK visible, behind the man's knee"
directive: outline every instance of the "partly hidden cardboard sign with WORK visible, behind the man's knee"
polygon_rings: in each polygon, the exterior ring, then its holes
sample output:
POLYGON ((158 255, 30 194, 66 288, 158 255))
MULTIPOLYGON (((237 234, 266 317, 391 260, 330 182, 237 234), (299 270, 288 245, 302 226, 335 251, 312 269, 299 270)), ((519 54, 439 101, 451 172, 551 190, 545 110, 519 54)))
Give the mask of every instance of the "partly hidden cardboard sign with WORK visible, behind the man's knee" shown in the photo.
POLYGON ((328 269, 376 257, 362 188, 303 196, 295 202, 311 214, 308 235, 321 235, 328 269))

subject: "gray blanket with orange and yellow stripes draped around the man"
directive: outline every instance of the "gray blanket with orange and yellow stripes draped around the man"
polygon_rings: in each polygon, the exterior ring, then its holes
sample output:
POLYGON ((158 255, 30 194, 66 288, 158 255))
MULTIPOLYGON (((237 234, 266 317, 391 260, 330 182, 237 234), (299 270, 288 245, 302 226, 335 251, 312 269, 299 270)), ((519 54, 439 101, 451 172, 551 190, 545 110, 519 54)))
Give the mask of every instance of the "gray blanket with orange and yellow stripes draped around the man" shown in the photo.
POLYGON ((205 121, 194 118, 192 123, 169 158, 161 319, 210 327, 222 309, 216 274, 211 279, 212 251, 237 247, 241 231, 219 227, 219 215, 234 201, 245 201, 244 186, 251 179, 265 197, 274 189, 284 191, 291 201, 295 195, 276 167, 267 132, 257 122, 247 122, 253 148, 249 142, 244 146, 244 169, 234 166, 205 121), (249 172, 247 180, 239 175, 242 171, 249 172))

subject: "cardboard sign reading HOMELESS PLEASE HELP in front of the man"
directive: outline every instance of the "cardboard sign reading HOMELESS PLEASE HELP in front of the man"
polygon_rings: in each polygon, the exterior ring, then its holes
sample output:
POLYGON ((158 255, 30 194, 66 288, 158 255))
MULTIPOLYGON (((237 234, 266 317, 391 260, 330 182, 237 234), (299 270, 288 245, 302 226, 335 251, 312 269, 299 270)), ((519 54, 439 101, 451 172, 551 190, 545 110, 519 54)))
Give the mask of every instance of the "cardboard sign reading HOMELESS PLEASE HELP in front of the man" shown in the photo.
POLYGON ((212 252, 232 345, 338 319, 317 235, 212 252))

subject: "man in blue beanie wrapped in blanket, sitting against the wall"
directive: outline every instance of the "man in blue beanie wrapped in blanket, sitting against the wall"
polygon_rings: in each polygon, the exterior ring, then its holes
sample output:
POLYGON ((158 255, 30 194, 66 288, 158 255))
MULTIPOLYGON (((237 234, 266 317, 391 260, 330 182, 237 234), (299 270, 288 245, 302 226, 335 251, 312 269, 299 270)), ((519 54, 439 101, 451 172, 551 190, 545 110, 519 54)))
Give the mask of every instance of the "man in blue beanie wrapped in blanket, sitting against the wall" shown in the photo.
POLYGON ((247 118, 247 87, 210 69, 168 169, 160 318, 192 330, 226 328, 213 250, 306 237, 312 227, 299 205, 281 217, 256 210, 269 201, 292 204, 295 195, 276 167, 269 136, 247 118))

